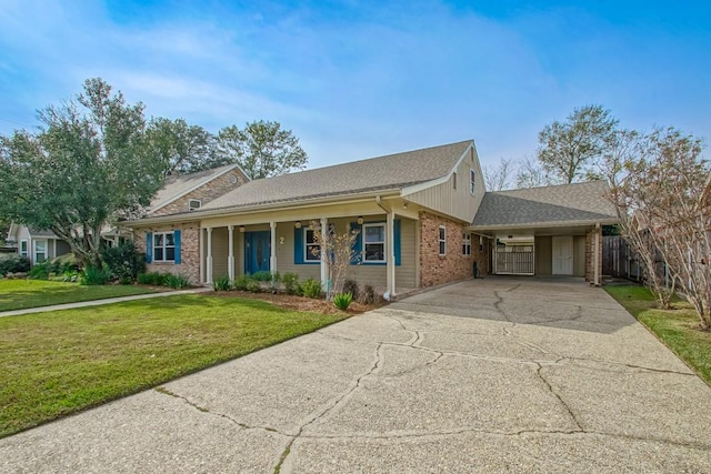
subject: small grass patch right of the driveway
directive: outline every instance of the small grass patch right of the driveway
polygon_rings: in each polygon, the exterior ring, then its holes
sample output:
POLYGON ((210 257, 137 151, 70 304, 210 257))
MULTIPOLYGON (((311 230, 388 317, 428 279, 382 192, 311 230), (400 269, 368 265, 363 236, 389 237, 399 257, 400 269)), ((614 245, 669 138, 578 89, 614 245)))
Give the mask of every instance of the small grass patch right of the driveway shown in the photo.
POLYGON ((691 304, 675 301, 672 310, 658 310, 654 297, 645 288, 625 285, 604 289, 711 384, 711 332, 701 331, 699 316, 691 304))

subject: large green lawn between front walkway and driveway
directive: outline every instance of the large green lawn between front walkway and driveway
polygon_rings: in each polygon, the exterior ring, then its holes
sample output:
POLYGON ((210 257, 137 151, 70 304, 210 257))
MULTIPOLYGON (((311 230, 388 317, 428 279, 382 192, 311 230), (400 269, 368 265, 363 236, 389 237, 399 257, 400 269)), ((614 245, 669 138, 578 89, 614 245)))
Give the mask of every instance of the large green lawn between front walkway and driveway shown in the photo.
POLYGON ((198 294, 0 317, 0 436, 342 317, 198 294))

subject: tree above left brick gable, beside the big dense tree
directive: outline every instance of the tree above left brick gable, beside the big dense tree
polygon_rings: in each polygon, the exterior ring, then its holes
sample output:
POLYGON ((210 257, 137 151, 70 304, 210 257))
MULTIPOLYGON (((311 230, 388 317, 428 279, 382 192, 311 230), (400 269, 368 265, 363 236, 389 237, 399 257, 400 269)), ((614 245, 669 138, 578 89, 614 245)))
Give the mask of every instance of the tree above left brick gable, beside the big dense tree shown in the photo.
POLYGON ((209 170, 229 163, 220 155, 216 138, 183 119, 154 118, 146 131, 148 150, 160 158, 166 175, 209 170))

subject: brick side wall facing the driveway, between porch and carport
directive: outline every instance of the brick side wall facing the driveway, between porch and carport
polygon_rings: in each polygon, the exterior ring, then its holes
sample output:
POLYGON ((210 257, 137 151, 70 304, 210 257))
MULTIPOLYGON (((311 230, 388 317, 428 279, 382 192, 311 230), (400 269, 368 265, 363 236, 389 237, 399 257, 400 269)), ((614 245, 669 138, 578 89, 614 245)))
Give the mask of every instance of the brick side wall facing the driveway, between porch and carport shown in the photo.
POLYGON ((479 238, 472 234, 471 255, 462 254, 463 225, 451 219, 430 212, 420 212, 420 285, 433 286, 469 279, 473 275, 473 262, 479 265, 479 274, 489 272, 488 248, 479 251, 479 238), (447 229, 447 253, 440 255, 439 228, 447 229))

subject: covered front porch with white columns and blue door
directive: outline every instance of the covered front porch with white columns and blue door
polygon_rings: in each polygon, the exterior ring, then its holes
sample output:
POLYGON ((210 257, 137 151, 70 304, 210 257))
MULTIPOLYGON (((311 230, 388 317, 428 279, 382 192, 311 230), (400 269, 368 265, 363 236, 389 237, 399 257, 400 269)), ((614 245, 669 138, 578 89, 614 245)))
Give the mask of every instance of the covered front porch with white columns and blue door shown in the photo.
POLYGON ((369 202, 276 210, 204 219, 200 223, 200 281, 257 272, 294 273, 314 279, 324 290, 328 263, 320 258, 313 228, 323 233, 358 232, 357 262, 347 278, 381 293, 419 285, 418 214, 400 202, 369 202))

